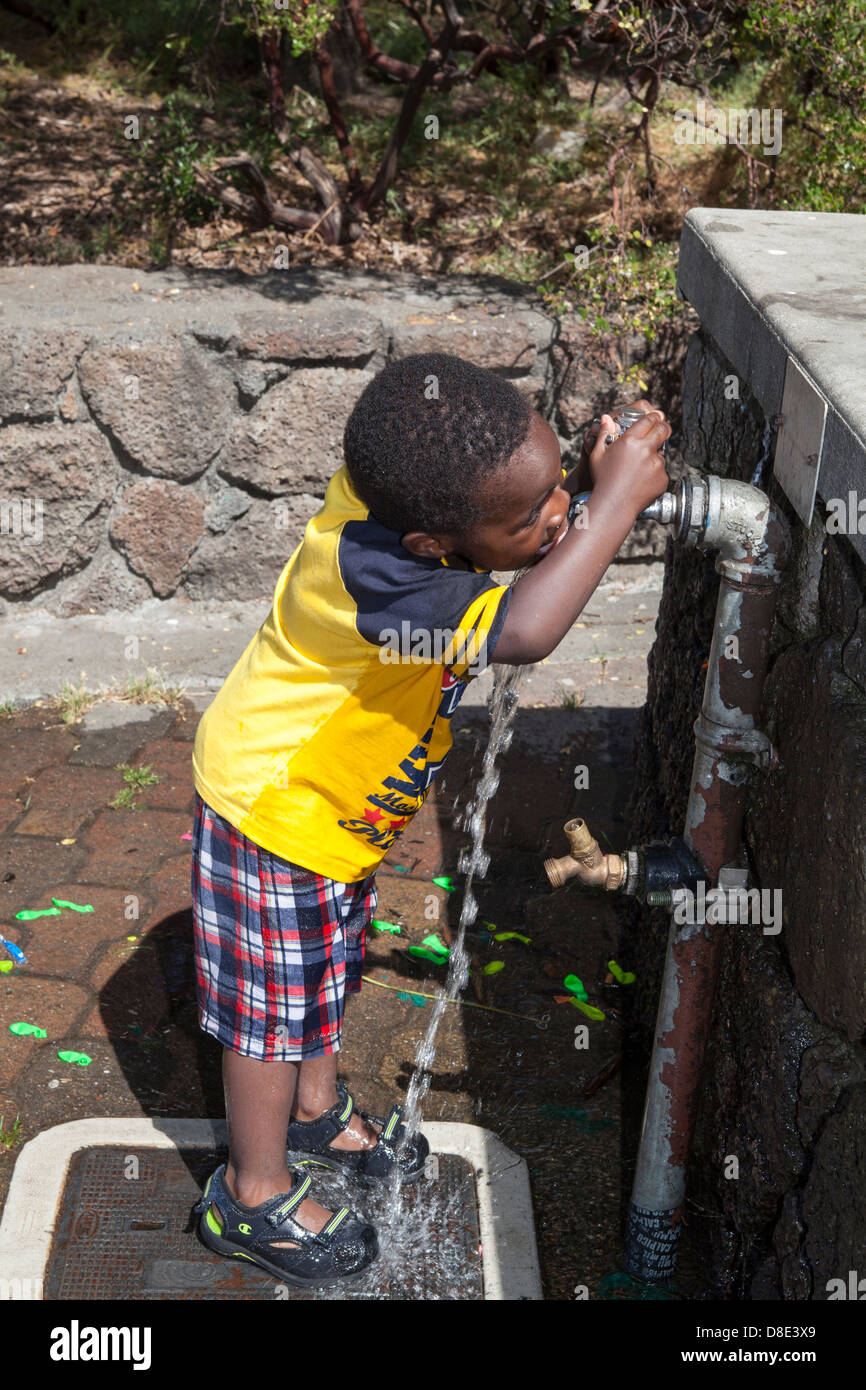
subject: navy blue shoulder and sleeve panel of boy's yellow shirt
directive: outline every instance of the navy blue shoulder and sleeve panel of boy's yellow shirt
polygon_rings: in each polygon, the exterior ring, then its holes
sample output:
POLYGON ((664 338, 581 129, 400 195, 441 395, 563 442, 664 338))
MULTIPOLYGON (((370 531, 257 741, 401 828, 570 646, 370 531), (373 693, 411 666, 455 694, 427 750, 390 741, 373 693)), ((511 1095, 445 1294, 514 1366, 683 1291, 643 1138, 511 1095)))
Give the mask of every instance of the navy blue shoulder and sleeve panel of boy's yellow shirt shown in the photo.
MULTIPOLYGON (((346 521, 338 549, 339 571, 346 591, 357 606, 357 630, 368 642, 381 646, 388 628, 410 623, 413 631, 434 628, 456 631, 466 610, 480 594, 500 585, 489 571, 474 574, 455 570, 438 560, 410 555, 400 545, 400 532, 367 517, 346 521)), ((499 638, 509 607, 510 591, 503 594, 491 627, 488 660, 499 638)))

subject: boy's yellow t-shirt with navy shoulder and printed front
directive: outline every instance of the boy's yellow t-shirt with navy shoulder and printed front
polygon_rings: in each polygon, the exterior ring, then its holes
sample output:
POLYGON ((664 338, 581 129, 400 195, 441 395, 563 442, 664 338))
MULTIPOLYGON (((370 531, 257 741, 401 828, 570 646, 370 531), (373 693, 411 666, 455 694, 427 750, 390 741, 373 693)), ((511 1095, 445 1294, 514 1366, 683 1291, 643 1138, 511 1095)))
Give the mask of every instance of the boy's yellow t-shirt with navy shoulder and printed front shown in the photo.
POLYGON ((410 555, 343 466, 204 712, 196 790, 271 853, 366 878, 442 767, 510 595, 489 570, 410 555))

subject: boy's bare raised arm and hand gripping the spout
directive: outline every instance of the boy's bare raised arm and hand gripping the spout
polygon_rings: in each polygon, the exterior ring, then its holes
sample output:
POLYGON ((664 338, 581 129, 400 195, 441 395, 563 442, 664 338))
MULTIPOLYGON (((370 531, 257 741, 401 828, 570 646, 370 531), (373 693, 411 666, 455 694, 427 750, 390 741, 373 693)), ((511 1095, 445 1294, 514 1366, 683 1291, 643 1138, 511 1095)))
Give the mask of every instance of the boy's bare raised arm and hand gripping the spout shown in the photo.
POLYGON ((656 414, 639 420, 614 443, 599 438, 589 456, 595 488, 584 525, 569 534, 514 584, 493 649, 496 663, 541 662, 559 646, 582 612, 638 513, 667 486, 659 446, 670 435, 656 414))

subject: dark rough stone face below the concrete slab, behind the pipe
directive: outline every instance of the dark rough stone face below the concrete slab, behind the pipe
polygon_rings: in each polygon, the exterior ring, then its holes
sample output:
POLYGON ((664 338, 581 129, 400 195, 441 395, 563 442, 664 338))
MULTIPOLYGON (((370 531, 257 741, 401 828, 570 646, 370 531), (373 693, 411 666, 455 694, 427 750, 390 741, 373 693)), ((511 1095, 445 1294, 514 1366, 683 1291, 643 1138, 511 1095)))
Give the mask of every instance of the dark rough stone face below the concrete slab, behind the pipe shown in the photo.
MULTIPOLYGON (((847 535, 827 532, 820 495, 810 527, 794 514, 771 478, 770 417, 741 363, 703 331, 688 346, 683 395, 687 464, 745 481, 760 467, 792 525, 762 713, 781 766, 753 774, 745 821, 752 883, 781 888, 783 930, 724 929, 688 1230, 733 1297, 824 1300, 828 1279, 866 1275, 866 567, 847 535), (733 378, 740 399, 727 400, 733 378), (737 1180, 724 1176, 727 1155, 738 1158, 737 1180)), ((631 844, 683 833, 713 564, 667 542, 631 844)), ((626 916, 639 1093, 669 919, 626 916)))

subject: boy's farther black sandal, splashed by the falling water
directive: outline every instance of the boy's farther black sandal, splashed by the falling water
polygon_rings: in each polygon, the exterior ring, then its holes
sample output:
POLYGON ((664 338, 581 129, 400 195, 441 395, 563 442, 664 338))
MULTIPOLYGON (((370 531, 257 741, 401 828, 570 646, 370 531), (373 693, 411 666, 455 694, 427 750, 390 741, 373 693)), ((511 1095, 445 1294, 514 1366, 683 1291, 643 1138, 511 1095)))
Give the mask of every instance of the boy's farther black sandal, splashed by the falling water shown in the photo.
POLYGON ((291 1122, 286 1136, 289 1145, 286 1162, 304 1168, 320 1166, 349 1172, 368 1184, 386 1182, 395 1166, 398 1166, 402 1175, 400 1182, 417 1182, 424 1172, 430 1144, 423 1134, 414 1134, 398 1158, 398 1151, 406 1133, 406 1126, 400 1125, 402 1105, 395 1105, 386 1119, 381 1119, 378 1115, 367 1115, 366 1111, 357 1112, 368 1123, 381 1125, 382 1133, 375 1148, 346 1150, 329 1147, 331 1140, 336 1138, 346 1129, 354 1111, 354 1101, 342 1081, 336 1083, 336 1094, 339 1097, 336 1105, 332 1105, 324 1115, 320 1115, 314 1120, 291 1122))

